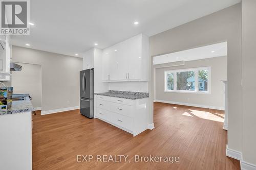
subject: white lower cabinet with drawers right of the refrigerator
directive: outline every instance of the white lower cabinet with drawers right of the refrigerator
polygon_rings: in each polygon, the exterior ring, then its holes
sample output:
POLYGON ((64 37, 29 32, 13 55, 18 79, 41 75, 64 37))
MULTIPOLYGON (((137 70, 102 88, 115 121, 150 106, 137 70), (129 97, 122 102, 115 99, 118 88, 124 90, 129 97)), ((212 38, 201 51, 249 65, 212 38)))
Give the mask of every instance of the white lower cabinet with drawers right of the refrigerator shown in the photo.
POLYGON ((96 118, 134 136, 147 129, 148 98, 130 100, 96 95, 96 118))

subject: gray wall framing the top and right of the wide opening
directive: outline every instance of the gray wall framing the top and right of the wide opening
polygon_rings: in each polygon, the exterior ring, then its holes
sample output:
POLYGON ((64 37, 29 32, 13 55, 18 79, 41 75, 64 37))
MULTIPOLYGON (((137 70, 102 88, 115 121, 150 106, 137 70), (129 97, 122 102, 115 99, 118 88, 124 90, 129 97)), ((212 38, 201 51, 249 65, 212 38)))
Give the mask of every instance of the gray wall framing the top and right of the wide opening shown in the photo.
MULTIPOLYGON (((228 147, 237 151, 242 150, 241 32, 241 4, 237 4, 150 37, 151 56, 227 41, 228 147)), ((151 94, 153 84, 152 78, 151 94)))

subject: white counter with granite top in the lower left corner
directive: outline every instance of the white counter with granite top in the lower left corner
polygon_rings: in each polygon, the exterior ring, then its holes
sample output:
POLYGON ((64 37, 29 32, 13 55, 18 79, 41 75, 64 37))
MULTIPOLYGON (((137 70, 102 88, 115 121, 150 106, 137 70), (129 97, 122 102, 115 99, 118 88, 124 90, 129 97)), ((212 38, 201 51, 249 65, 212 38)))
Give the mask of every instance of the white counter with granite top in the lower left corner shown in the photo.
POLYGON ((30 98, 25 96, 0 112, 0 169, 32 169, 31 111, 30 98))

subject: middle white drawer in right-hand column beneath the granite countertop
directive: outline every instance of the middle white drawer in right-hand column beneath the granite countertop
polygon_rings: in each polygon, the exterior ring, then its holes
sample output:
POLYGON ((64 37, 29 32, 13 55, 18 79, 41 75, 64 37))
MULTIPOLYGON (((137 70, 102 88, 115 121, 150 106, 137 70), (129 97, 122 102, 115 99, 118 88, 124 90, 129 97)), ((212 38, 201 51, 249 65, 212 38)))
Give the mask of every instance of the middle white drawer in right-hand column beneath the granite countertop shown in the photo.
POLYGON ((110 103, 110 110, 115 113, 119 113, 125 116, 133 117, 134 106, 128 106, 118 103, 110 103))

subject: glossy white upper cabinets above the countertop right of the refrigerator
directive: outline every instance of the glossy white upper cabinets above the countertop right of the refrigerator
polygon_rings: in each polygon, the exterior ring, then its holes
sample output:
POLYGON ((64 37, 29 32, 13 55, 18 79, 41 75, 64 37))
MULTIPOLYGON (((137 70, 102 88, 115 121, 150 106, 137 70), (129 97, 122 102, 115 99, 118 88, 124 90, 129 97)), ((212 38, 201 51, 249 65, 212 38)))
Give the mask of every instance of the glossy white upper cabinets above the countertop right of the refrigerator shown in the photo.
POLYGON ((139 34, 103 50, 103 81, 147 81, 148 37, 139 34))

